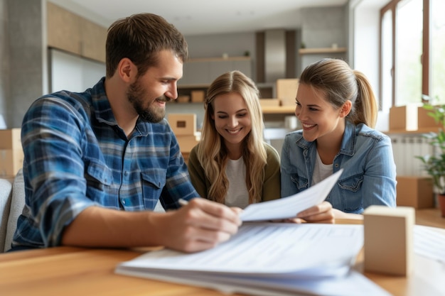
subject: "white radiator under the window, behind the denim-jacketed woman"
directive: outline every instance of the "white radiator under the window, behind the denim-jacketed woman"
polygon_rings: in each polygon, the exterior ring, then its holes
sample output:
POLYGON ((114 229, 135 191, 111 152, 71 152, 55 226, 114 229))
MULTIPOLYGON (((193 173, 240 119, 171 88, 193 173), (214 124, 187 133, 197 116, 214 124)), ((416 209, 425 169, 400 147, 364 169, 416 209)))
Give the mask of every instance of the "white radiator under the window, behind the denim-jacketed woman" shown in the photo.
POLYGON ((422 160, 415 158, 434 152, 427 139, 419 134, 390 135, 390 138, 397 175, 427 176, 422 160))

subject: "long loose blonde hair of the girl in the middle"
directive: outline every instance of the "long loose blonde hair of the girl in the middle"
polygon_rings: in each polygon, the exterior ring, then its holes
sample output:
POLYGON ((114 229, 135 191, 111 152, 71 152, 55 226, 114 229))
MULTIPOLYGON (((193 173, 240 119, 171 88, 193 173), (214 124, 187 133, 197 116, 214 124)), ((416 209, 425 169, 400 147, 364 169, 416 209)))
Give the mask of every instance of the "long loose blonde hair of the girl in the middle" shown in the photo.
POLYGON ((225 175, 227 148, 222 136, 216 131, 215 121, 212 119, 215 112, 215 97, 228 93, 240 94, 250 114, 252 130, 242 141, 242 158, 246 165, 245 182, 249 192, 249 203, 260 202, 264 167, 267 164, 267 153, 263 141, 264 121, 257 86, 240 71, 226 72, 216 78, 208 88, 205 98, 204 122, 197 154, 211 184, 208 199, 225 203, 225 195, 229 188, 229 181, 225 175))

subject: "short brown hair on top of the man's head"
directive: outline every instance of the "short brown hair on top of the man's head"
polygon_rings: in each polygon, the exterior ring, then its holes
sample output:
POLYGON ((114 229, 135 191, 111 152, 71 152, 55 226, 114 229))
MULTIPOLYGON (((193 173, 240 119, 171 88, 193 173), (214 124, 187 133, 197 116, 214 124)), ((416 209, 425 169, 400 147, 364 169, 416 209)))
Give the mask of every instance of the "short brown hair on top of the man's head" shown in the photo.
POLYGON ((183 62, 188 58, 186 39, 178 29, 161 16, 138 13, 115 21, 108 28, 106 61, 107 77, 127 57, 138 68, 138 76, 158 62, 161 50, 171 50, 183 62))

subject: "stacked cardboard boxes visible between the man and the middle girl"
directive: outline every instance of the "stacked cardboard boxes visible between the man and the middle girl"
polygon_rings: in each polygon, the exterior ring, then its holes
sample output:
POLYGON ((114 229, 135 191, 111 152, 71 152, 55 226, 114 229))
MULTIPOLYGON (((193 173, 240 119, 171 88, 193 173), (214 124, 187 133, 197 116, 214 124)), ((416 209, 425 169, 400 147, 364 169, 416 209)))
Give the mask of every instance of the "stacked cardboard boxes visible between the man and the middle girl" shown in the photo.
POLYGON ((196 131, 196 114, 168 114, 167 120, 187 160, 188 153, 200 140, 200 133, 196 131))

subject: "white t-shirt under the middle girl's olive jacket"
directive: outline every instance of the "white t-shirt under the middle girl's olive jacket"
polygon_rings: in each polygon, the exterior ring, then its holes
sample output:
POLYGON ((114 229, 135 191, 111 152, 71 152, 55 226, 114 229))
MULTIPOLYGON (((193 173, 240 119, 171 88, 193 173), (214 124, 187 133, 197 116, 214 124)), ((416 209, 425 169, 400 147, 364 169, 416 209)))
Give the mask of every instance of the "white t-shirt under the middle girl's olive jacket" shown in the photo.
POLYGON ((246 165, 242 158, 229 159, 225 168, 225 175, 229 180, 229 190, 225 196, 227 207, 240 207, 244 209, 249 205, 249 193, 246 186, 246 165))

